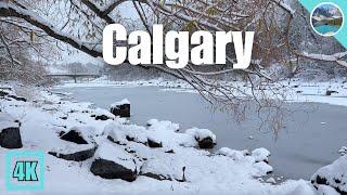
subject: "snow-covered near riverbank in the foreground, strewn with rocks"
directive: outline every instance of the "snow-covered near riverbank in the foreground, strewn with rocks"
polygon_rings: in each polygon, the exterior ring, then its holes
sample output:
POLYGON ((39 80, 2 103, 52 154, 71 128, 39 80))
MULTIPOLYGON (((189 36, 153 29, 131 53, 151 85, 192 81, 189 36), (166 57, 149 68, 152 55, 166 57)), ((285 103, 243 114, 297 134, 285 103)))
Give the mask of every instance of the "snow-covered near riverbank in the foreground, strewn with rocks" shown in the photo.
MULTIPOLYGON (((13 92, 11 92, 13 93, 13 92)), ((266 148, 235 151, 220 148, 213 153, 198 148, 198 141, 218 138, 206 129, 193 128, 177 132, 179 125, 171 121, 149 120, 149 126, 137 126, 114 117, 104 109, 93 109, 91 103, 64 101, 46 90, 38 90, 27 102, 12 98, 0 99, 1 112, 21 121, 23 148, 42 151, 46 155, 47 193, 132 193, 146 194, 314 194, 309 181, 287 180, 281 184, 261 177, 272 171, 266 148), (95 120, 106 115, 108 120, 95 120), (62 140, 60 134, 74 129, 89 144, 62 140), (107 139, 108 138, 108 139, 107 139), (112 138, 112 139, 110 139, 112 138), (146 142, 160 143, 150 147, 146 142), (98 147, 93 157, 77 162, 48 152, 72 153, 98 147), (137 172, 133 182, 102 179, 90 171, 95 159, 107 159, 137 172), (150 173, 150 174, 149 174, 150 173), (157 176, 158 178, 154 179, 157 176)), ((149 118, 150 119, 150 118, 149 118)), ((201 127, 203 128, 203 127, 201 127)), ((0 161, 7 148, 0 147, 0 161)), ((0 186, 4 186, 4 169, 0 169, 0 186)), ((326 188, 326 187, 325 187, 326 188)), ((331 190, 331 188, 330 188, 331 190)), ((321 190, 322 191, 322 190, 321 190)), ((0 187, 0 194, 5 194, 0 187)), ((17 192, 21 194, 21 192, 17 192)), ((35 192, 37 193, 37 192, 35 192)))

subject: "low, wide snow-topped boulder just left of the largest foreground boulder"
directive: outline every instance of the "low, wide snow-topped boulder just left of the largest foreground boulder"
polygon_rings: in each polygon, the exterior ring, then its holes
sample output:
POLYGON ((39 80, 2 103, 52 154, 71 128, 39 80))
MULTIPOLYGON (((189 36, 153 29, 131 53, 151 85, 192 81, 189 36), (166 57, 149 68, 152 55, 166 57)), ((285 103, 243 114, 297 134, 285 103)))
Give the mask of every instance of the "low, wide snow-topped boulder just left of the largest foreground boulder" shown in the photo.
POLYGON ((67 145, 63 150, 53 150, 48 154, 65 160, 83 161, 91 158, 97 151, 93 144, 85 145, 67 145))

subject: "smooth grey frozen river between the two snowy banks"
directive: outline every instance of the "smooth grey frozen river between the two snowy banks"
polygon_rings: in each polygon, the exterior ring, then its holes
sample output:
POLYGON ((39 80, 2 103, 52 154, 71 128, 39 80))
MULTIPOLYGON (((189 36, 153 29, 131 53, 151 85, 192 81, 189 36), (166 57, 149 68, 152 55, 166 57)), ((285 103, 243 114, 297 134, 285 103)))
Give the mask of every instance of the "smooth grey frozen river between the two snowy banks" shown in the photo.
POLYGON ((214 112, 209 104, 196 93, 164 91, 156 87, 117 88, 63 88, 77 101, 95 103, 108 109, 110 104, 127 98, 131 102, 130 120, 144 125, 151 118, 171 120, 181 126, 207 128, 217 135, 217 148, 234 150, 266 147, 271 152, 270 165, 274 176, 290 179, 306 179, 322 166, 331 164, 347 145, 347 108, 329 104, 292 103, 295 110, 285 117, 285 128, 274 140, 272 132, 259 131, 256 114, 235 122, 222 112, 214 112), (303 109, 303 107, 305 107, 303 109), (249 136, 254 139, 249 139, 249 136))

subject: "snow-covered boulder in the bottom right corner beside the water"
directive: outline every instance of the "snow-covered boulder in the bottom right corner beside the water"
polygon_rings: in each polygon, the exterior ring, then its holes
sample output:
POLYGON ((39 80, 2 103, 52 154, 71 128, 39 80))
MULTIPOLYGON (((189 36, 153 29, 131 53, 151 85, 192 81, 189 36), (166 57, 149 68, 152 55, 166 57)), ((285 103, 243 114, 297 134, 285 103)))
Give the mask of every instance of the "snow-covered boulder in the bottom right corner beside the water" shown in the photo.
POLYGON ((320 168, 312 177, 311 183, 319 185, 329 185, 340 194, 347 194, 347 156, 342 156, 333 164, 320 168))

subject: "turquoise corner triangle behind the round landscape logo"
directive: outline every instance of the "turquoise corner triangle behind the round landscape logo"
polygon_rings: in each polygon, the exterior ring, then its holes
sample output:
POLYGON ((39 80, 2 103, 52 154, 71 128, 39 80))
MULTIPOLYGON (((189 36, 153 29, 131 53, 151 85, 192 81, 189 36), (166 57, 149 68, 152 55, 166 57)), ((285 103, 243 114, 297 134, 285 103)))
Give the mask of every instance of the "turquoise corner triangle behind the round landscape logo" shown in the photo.
MULTIPOLYGON (((310 13, 312 13, 320 4, 332 3, 339 8, 343 12, 343 23, 340 24, 340 29, 334 35, 334 37, 347 48, 347 1, 346 0, 299 0, 299 2, 305 6, 310 13)), ((326 26, 324 26, 326 28, 326 26)))

